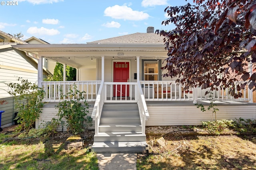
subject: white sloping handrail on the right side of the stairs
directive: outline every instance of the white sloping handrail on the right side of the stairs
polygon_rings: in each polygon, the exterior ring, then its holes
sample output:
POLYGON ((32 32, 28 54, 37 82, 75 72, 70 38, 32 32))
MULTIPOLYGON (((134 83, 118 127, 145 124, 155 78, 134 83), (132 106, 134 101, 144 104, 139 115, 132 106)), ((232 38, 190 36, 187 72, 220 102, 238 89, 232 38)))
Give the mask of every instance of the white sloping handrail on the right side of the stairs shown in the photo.
POLYGON ((148 107, 144 98, 144 94, 142 91, 142 87, 140 85, 140 82, 138 82, 138 108, 139 108, 139 113, 140 113, 140 122, 142 126, 142 134, 145 134, 146 130, 146 120, 148 120, 149 113, 148 113, 148 107))

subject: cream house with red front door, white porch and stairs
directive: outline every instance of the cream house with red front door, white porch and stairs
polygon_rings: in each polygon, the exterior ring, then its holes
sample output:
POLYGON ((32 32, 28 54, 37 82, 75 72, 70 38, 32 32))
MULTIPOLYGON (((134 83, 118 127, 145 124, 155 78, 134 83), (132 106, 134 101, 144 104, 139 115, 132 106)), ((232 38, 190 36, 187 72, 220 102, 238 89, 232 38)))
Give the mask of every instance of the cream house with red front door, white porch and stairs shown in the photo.
MULTIPOLYGON (((212 112, 202 113, 194 103, 209 103, 206 90, 190 88, 185 91, 176 79, 163 78, 163 37, 148 27, 147 33, 134 33, 87 44, 22 44, 15 49, 34 53, 38 58, 38 85, 46 96, 44 110, 36 122, 40 128, 56 117, 56 102, 74 84, 84 90, 94 119, 94 144, 97 152, 138 151, 145 149, 145 126, 200 125, 212 120, 212 112), (77 81, 44 82, 44 59, 58 61, 77 69, 77 81), (122 149, 120 149, 122 148, 122 149)), ((228 90, 214 92, 218 104, 218 119, 256 118, 252 91, 244 90, 238 100, 228 90)), ((59 127, 59 130, 66 130, 59 127)))

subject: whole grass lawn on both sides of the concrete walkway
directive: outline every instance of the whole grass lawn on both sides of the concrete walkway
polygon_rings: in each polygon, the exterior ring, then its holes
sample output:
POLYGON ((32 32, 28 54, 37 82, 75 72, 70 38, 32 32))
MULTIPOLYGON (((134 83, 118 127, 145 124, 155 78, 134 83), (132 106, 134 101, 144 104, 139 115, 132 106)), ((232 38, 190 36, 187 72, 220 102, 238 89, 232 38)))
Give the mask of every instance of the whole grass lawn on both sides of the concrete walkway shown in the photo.
MULTIPOLYGON (((166 127, 168 128, 168 127, 166 127)), ((66 137, 8 139, 0 133, 0 169, 98 170, 96 153, 64 149, 66 137)), ((252 170, 256 169, 256 136, 147 133, 149 156, 138 154, 138 170, 252 170), (164 137, 165 147, 156 144, 164 137)), ((91 142, 91 141, 90 141, 91 142)))

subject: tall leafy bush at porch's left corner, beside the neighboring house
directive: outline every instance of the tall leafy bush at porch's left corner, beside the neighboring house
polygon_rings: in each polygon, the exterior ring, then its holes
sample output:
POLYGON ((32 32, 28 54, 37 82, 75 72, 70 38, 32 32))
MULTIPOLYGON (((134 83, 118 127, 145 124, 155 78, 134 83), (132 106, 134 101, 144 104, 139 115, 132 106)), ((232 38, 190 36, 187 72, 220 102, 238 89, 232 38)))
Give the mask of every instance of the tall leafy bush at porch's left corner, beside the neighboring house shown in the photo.
POLYGON ((28 80, 18 78, 18 81, 21 81, 21 84, 8 84, 13 89, 8 93, 15 98, 15 108, 18 109, 16 117, 18 123, 25 132, 28 132, 42 112, 44 91, 37 84, 32 84, 28 80))

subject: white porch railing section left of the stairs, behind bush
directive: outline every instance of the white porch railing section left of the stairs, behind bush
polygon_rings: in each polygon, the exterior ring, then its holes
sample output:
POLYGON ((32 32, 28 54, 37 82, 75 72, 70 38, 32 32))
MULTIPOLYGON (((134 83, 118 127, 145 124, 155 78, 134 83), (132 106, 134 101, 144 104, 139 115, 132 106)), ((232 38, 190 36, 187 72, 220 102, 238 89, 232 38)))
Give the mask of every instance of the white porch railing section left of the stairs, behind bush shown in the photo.
POLYGON ((45 92, 43 102, 60 102, 61 100, 69 100, 70 96, 66 98, 65 95, 70 91, 70 89, 74 88, 80 92, 85 92, 83 96, 86 101, 95 101, 100 87, 100 82, 101 81, 42 82, 42 88, 45 92))

